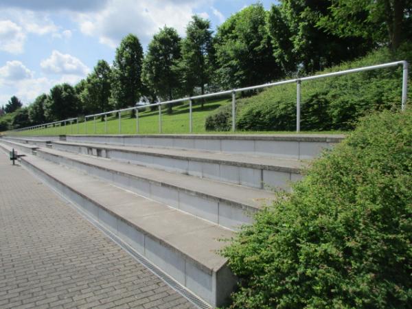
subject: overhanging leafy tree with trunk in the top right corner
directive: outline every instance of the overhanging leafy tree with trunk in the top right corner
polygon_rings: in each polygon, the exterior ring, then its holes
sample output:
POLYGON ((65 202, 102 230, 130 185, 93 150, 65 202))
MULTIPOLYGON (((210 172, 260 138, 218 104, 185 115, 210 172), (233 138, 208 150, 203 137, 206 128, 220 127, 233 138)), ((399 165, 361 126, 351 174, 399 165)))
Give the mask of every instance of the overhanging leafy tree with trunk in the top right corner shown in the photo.
POLYGON ((332 1, 318 25, 342 38, 357 37, 397 49, 412 35, 411 0, 332 1))

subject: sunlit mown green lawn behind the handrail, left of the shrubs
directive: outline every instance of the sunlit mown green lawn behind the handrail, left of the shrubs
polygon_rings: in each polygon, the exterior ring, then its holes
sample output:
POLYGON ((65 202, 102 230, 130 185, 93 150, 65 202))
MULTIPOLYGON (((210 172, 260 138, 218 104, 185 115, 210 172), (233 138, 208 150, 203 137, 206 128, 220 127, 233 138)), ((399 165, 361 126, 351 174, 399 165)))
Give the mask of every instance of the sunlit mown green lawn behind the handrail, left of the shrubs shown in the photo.
MULTIPOLYGON (((196 102, 192 106, 193 130, 192 133, 224 133, 233 134, 232 132, 206 131, 205 119, 207 115, 219 106, 231 104, 231 100, 209 100, 205 102, 203 108, 200 102, 196 102)), ((189 104, 174 105, 172 114, 168 114, 167 108, 162 106, 161 115, 161 133, 164 134, 187 134, 189 133, 189 104)), ((120 129, 119 119, 115 115, 108 115, 107 122, 104 122, 100 117, 88 119, 87 122, 79 124, 67 124, 66 126, 49 127, 45 129, 30 130, 14 133, 14 135, 84 135, 84 134, 159 134, 159 111, 139 111, 139 130, 137 131, 137 121, 135 117, 131 117, 130 111, 122 113, 120 129)), ((240 131, 236 132, 240 133, 240 131)), ((286 134, 293 132, 285 131, 241 131, 242 134, 286 134)), ((301 132, 308 134, 316 134, 319 132, 301 132)), ((322 133, 339 134, 342 132, 330 131, 322 133)))

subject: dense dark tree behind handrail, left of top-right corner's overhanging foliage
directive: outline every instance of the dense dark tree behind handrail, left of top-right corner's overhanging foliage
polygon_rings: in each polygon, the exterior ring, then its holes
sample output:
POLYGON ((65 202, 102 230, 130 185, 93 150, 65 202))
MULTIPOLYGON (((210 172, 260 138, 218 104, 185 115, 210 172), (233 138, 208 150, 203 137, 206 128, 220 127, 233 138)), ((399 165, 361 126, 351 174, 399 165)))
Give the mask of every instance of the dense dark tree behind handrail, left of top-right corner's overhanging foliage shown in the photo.
POLYGON ((272 5, 268 29, 284 73, 319 71, 363 56, 373 47, 371 40, 343 38, 321 29, 319 20, 330 14, 330 5, 330 0, 281 0, 272 5))

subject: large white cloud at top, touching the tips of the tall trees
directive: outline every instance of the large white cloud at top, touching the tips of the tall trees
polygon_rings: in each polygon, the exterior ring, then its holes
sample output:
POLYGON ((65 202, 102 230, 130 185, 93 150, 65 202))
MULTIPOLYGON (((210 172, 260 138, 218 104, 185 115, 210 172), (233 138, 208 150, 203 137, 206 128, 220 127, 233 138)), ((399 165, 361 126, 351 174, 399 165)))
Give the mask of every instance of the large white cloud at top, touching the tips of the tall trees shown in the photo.
POLYGON ((147 45, 164 25, 176 28, 181 36, 194 14, 206 0, 111 0, 99 12, 77 14, 80 31, 98 36, 100 43, 117 47, 124 36, 136 34, 147 45))

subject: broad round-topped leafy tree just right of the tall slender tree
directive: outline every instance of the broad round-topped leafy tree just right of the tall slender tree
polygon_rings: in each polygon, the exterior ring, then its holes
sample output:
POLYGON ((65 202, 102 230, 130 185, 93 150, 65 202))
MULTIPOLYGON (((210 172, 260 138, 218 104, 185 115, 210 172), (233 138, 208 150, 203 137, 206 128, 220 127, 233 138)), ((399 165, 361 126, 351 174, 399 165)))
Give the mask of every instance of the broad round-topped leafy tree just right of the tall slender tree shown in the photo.
POLYGON ((249 5, 218 27, 217 73, 222 87, 246 87, 282 76, 266 27, 261 3, 249 5))

